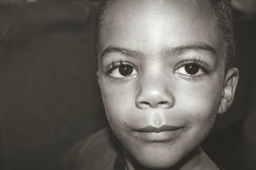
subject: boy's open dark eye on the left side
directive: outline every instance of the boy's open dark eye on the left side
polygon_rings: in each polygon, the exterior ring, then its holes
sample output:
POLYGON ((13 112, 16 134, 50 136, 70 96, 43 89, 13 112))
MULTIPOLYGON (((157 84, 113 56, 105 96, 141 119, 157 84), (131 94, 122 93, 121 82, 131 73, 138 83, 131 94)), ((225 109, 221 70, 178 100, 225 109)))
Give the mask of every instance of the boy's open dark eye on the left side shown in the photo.
POLYGON ((138 74, 136 69, 129 65, 129 64, 124 64, 120 63, 119 66, 116 66, 115 64, 113 65, 113 69, 110 72, 110 76, 114 78, 124 78, 124 77, 129 77, 138 74))

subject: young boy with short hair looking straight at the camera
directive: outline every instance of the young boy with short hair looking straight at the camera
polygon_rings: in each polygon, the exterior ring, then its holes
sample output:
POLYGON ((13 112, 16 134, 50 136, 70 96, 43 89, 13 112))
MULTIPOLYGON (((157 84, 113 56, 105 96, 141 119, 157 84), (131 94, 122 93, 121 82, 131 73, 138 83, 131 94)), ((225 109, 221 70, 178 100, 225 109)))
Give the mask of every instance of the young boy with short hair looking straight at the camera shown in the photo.
POLYGON ((111 130, 63 169, 219 169, 200 143, 234 99, 233 54, 228 1, 104 1, 97 78, 111 130))

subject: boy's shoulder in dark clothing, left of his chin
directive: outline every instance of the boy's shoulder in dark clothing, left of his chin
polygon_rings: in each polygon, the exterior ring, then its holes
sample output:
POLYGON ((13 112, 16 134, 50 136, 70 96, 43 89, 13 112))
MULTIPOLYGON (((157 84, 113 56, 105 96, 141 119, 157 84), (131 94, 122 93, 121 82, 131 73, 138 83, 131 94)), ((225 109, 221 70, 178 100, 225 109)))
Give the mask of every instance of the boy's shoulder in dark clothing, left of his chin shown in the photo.
POLYGON ((122 147, 110 129, 102 129, 79 141, 61 160, 63 170, 113 169, 122 147))

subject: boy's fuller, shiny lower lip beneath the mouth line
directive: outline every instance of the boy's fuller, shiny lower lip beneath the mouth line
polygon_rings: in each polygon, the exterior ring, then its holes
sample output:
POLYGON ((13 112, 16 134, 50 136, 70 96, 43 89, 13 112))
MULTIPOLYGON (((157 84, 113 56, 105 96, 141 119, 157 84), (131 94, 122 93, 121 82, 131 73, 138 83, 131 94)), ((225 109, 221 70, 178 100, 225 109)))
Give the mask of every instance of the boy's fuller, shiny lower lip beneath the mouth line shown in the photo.
POLYGON ((181 129, 163 132, 138 132, 143 141, 146 142, 169 142, 179 138, 181 129))

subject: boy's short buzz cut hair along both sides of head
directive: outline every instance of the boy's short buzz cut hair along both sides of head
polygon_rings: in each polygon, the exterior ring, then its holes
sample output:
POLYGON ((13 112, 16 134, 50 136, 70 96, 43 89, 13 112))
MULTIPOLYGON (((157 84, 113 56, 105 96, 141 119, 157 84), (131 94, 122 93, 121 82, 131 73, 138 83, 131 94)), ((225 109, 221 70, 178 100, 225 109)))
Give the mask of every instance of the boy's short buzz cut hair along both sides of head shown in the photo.
MULTIPOLYGON (((96 30, 96 53, 98 55, 99 40, 102 27, 104 25, 104 17, 108 12, 109 6, 115 0, 102 0, 99 5, 97 16, 96 30)), ((225 45, 225 70, 230 69, 234 64, 235 47, 234 47, 234 25, 232 8, 229 0, 203 0, 211 7, 214 15, 214 22, 219 28, 220 35, 223 37, 225 45)))

